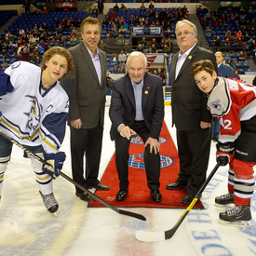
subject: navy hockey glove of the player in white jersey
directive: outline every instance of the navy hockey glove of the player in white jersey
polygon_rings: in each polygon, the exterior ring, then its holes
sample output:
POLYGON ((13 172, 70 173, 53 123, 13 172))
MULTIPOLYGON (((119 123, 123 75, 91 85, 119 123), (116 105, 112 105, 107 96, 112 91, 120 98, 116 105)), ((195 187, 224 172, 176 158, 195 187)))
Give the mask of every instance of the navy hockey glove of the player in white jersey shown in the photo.
POLYGON ((56 179, 61 174, 61 168, 63 162, 66 159, 64 152, 58 152, 56 154, 44 154, 48 165, 44 165, 42 170, 50 175, 53 179, 56 179))

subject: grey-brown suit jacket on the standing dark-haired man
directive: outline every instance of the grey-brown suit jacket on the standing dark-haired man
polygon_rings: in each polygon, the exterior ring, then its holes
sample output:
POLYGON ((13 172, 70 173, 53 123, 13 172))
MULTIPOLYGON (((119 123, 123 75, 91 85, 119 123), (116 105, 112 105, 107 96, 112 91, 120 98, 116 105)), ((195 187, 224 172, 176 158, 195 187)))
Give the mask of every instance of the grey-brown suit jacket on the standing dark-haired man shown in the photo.
POLYGON ((103 126, 106 87, 112 88, 112 81, 106 77, 105 53, 99 49, 101 59, 101 82, 83 42, 68 49, 74 58, 74 70, 61 79, 61 86, 69 95, 70 109, 68 123, 81 118, 82 128, 103 126))

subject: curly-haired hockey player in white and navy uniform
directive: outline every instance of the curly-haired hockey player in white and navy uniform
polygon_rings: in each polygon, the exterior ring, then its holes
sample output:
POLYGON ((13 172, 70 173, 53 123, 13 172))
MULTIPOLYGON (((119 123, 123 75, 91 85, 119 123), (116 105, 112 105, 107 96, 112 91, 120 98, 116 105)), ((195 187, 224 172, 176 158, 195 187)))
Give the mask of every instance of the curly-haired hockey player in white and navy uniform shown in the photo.
MULTIPOLYGON (((64 139, 68 96, 58 80, 73 69, 73 58, 63 47, 51 47, 41 67, 17 61, 0 72, 0 130, 49 161, 53 168, 31 158, 47 210, 59 208, 52 179, 60 175, 65 154, 59 152, 64 139)), ((12 142, 0 135, 0 198, 12 142)))

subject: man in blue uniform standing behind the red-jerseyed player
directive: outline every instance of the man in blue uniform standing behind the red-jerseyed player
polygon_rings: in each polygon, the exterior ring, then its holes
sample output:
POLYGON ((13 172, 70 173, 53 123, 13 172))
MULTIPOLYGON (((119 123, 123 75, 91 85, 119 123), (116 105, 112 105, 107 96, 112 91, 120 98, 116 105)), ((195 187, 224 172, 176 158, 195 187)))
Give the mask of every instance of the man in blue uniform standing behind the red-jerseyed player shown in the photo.
MULTIPOLYGON (((222 55, 222 52, 216 51, 215 57, 218 65, 218 76, 222 76, 225 78, 235 78, 234 69, 231 66, 225 65, 223 63, 224 57, 222 55)), ((218 120, 218 118, 213 117, 211 140, 218 141, 220 131, 221 131, 220 121, 218 120)))

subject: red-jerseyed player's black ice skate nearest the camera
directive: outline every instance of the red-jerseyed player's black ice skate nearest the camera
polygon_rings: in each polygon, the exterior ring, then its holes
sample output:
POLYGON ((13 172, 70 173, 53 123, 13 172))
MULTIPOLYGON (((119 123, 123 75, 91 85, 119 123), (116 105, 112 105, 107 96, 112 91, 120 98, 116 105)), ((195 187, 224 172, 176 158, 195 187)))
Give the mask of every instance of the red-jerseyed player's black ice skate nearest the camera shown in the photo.
POLYGON ((236 226, 250 226, 251 213, 249 206, 236 206, 233 209, 228 209, 221 212, 219 222, 236 226))

